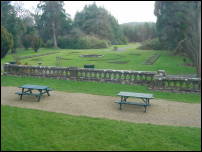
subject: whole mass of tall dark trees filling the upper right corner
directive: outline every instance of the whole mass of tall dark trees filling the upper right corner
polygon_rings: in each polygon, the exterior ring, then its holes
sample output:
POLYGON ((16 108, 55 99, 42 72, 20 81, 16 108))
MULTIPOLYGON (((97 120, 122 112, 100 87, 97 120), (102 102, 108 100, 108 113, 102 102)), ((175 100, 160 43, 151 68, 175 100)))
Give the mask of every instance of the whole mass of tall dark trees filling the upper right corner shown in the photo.
POLYGON ((201 2, 157 1, 154 14, 162 46, 176 54, 187 55, 201 75, 201 2))

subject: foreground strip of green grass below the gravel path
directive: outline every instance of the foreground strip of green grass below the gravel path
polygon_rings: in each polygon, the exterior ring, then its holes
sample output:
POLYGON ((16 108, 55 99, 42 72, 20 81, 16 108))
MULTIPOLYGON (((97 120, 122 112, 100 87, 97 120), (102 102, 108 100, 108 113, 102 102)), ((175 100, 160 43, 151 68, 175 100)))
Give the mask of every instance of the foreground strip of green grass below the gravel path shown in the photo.
POLYGON ((201 129, 1 106, 1 150, 200 150, 201 129))

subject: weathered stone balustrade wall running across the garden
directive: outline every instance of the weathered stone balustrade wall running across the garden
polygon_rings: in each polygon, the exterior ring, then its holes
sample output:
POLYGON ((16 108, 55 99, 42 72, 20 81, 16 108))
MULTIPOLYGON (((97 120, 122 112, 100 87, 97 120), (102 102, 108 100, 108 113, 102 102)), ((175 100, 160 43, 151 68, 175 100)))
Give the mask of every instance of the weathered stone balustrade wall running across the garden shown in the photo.
POLYGON ((130 85, 138 84, 161 91, 200 92, 201 90, 200 78, 166 75, 163 70, 152 72, 4 64, 4 74, 130 85))

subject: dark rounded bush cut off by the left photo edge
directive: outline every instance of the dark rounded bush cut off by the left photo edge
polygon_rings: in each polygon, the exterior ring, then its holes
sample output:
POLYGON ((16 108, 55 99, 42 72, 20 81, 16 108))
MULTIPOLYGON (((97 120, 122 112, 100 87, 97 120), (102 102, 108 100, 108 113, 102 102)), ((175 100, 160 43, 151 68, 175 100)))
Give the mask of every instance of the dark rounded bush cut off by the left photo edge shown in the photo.
POLYGON ((11 48, 13 48, 12 34, 1 26, 1 58, 5 57, 11 48))

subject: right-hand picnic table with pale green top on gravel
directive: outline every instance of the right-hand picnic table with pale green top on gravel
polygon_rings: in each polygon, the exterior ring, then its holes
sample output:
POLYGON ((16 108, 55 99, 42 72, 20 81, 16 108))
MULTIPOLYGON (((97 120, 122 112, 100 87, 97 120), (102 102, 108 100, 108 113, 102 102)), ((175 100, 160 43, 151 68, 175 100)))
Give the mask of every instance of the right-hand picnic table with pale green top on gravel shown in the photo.
POLYGON ((115 103, 120 104, 120 110, 121 110, 122 104, 130 104, 130 105, 144 106, 144 108, 145 108, 144 112, 146 112, 147 106, 151 105, 149 103, 149 100, 154 98, 153 94, 136 93, 136 92, 119 92, 117 95, 121 97, 121 100, 115 101, 115 103), (129 101, 127 101, 127 99, 129 97, 140 98, 140 99, 142 99, 143 103, 129 102, 129 101))

